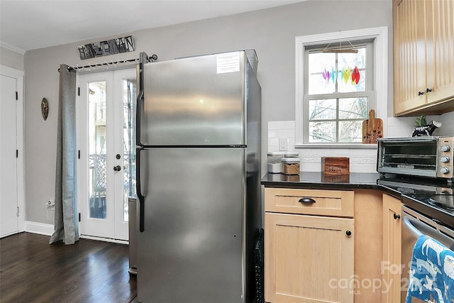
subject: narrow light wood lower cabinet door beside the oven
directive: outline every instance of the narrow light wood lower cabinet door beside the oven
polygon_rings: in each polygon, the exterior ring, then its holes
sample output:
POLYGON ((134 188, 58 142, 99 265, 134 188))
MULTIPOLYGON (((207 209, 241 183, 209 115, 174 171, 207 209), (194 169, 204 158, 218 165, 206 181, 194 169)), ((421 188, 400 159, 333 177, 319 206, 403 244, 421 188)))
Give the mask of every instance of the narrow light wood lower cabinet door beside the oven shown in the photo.
POLYGON ((402 204, 383 194, 382 302, 400 302, 402 264, 402 204))

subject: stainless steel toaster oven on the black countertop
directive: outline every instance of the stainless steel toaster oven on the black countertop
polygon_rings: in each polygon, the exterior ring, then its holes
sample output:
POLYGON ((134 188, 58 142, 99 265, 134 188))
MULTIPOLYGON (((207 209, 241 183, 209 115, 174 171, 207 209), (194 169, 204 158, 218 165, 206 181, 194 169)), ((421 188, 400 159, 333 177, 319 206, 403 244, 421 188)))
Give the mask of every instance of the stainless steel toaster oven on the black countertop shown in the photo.
POLYGON ((454 136, 377 139, 377 172, 453 182, 454 136))

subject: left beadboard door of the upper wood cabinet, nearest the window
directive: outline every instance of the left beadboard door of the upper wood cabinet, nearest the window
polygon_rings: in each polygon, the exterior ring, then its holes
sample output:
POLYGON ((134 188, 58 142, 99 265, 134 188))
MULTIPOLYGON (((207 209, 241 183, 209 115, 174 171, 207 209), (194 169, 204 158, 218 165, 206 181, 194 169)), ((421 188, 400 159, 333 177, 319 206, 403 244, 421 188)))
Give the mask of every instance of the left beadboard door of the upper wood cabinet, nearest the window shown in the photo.
POLYGON ((425 20, 424 1, 394 0, 394 114, 426 104, 425 20))

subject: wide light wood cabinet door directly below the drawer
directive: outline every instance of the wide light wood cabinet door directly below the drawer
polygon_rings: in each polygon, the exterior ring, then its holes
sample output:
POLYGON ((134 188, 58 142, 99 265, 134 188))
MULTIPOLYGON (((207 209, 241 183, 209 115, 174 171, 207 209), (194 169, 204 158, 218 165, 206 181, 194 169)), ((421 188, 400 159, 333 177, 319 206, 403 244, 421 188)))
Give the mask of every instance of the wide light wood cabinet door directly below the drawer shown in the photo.
POLYGON ((353 302, 354 235, 353 219, 265 213, 265 301, 353 302))

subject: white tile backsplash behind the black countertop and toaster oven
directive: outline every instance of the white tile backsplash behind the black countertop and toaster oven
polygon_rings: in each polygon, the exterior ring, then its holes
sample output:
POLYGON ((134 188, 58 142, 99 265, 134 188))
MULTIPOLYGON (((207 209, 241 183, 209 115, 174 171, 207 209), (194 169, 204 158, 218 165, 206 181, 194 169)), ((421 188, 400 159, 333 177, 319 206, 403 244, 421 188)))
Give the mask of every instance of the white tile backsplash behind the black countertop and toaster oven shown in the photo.
MULTIPOLYGON (((433 136, 454 136, 454 111, 440 116, 427 116, 427 121, 443 123, 433 136)), ((409 137, 415 117, 389 117, 384 136, 387 138, 409 137)), ((268 122, 268 150, 279 151, 279 138, 287 138, 287 150, 298 151, 300 170, 320 172, 321 157, 350 158, 350 172, 377 172, 377 148, 295 148, 295 122, 268 122)))

